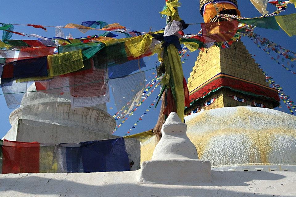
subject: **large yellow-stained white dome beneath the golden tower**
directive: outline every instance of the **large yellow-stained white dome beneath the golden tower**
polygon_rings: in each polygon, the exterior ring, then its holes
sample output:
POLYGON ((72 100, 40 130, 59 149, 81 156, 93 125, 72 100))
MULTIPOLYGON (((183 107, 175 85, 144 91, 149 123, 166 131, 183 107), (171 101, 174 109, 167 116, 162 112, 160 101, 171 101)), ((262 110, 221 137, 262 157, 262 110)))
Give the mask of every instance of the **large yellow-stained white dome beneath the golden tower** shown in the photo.
POLYGON ((217 170, 296 170, 296 117, 258 107, 225 107, 185 117, 199 159, 217 170))

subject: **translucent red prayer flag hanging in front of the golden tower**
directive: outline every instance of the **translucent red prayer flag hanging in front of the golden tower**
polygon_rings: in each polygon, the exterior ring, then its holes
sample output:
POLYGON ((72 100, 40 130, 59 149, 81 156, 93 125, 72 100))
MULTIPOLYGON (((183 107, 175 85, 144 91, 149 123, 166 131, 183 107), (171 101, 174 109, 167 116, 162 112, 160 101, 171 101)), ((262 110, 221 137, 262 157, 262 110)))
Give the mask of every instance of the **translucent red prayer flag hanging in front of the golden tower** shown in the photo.
POLYGON ((237 26, 237 21, 201 23, 205 43, 230 40, 235 35, 237 26))

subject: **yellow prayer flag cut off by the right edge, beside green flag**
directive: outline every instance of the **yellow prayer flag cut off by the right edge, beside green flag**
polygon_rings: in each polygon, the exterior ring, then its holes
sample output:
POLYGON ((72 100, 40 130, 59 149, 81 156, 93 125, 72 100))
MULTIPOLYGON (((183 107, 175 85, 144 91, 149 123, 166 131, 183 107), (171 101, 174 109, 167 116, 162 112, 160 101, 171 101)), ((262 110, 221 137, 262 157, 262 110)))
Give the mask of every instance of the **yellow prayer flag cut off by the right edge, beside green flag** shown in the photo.
POLYGON ((290 37, 296 35, 296 14, 275 16, 275 20, 290 37))

